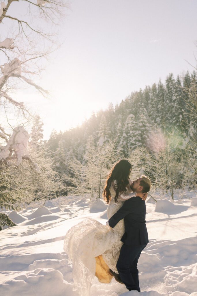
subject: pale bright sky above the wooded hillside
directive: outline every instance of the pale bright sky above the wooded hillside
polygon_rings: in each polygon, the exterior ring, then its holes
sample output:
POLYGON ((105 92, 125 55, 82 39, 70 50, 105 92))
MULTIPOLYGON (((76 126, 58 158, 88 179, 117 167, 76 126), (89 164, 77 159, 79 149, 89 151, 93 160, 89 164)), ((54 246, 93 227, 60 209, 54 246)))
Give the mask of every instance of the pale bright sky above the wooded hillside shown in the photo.
MULTIPOLYGON (((35 93, 21 99, 51 131, 80 125, 92 112, 119 104, 132 91, 191 73, 197 57, 196 0, 73 0, 35 93)), ((20 99, 20 101, 21 101, 20 99)))

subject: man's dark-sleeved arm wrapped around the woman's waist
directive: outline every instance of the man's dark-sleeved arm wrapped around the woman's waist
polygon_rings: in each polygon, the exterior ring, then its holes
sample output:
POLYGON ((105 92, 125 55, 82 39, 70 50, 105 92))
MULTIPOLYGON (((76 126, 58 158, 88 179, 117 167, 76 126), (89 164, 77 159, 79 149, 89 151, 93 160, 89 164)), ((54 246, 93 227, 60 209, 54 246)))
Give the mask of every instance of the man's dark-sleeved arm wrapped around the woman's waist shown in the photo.
POLYGON ((140 197, 132 197, 126 200, 123 206, 109 219, 109 226, 113 228, 126 215, 135 213, 136 206, 139 205, 139 202, 141 202, 140 197))

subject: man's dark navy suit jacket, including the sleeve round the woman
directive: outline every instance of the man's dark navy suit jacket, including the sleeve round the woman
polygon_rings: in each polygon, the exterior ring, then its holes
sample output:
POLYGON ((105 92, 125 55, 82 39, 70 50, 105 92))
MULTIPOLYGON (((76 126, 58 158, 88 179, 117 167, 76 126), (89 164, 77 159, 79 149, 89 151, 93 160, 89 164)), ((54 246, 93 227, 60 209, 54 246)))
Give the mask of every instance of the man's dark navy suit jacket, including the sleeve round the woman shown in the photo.
POLYGON ((128 246, 139 246, 149 242, 146 229, 146 203, 141 197, 131 197, 109 219, 109 226, 114 227, 124 218, 125 233, 121 241, 128 246))

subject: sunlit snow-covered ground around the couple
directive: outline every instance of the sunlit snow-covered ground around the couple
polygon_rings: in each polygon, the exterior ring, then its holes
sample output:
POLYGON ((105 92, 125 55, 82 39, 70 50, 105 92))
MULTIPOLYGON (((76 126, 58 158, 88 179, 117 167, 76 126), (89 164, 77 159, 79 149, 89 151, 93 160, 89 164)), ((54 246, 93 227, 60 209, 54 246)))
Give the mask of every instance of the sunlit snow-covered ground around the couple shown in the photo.
MULTIPOLYGON (((149 244, 138 264, 142 292, 95 277, 91 296, 197 296, 197 198, 186 195, 191 199, 146 202, 149 244)), ((17 226, 0 231, 0 295, 77 296, 64 236, 86 217, 106 224, 106 208, 102 201, 89 208, 82 197, 59 197, 45 207, 32 203, 19 212, 5 211, 17 226)))

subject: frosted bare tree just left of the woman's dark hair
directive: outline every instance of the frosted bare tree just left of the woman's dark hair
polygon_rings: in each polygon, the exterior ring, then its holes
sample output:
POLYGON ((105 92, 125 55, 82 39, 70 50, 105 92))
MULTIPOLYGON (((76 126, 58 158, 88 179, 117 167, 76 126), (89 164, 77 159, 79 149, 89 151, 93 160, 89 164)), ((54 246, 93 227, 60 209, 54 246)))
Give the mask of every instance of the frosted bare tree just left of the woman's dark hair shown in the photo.
POLYGON ((68 193, 87 195, 90 200, 101 198, 105 181, 117 160, 116 157, 112 142, 97 147, 87 145, 84 164, 76 159, 70 161, 69 167, 73 177, 65 176, 66 181, 71 184, 67 187, 68 193))

